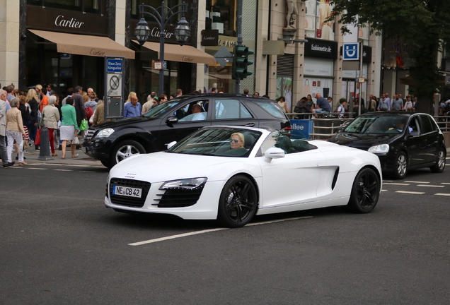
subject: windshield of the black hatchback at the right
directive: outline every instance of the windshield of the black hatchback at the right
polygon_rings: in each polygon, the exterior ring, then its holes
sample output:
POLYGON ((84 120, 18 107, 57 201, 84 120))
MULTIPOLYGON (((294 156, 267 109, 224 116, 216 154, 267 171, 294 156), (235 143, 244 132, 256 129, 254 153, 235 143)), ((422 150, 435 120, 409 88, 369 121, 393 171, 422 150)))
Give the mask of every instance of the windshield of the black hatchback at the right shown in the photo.
POLYGON ((348 133, 400 133, 406 123, 406 116, 358 116, 345 128, 348 133))

